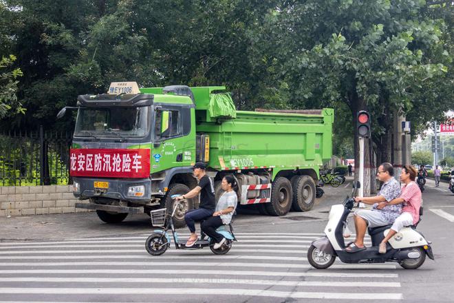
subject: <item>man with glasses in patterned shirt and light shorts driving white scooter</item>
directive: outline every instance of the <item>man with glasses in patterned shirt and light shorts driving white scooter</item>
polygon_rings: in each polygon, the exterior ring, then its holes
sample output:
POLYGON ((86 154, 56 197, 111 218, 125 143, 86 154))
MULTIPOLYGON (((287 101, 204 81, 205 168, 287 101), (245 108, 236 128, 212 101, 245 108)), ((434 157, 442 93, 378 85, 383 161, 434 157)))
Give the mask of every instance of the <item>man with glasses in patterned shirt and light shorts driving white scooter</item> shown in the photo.
POLYGON ((402 211, 402 205, 386 205, 378 209, 380 202, 390 202, 400 195, 399 182, 393 178, 394 169, 390 163, 382 163, 378 167, 378 180, 383 182, 380 192, 375 197, 355 197, 356 202, 373 205, 371 210, 355 211, 354 221, 356 229, 356 239, 350 243, 345 251, 356 253, 366 249, 364 246, 364 236, 367 227, 380 227, 393 224, 402 211))

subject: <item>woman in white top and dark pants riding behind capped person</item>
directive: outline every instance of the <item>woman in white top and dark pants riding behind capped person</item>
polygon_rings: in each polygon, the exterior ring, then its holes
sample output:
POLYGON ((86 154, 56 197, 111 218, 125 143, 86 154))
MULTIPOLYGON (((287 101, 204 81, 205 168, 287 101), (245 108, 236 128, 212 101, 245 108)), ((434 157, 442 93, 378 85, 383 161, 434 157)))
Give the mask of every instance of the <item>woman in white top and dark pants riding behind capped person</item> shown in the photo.
POLYGON ((217 233, 216 229, 222 224, 230 223, 238 203, 238 184, 234 176, 225 176, 222 179, 221 187, 224 194, 219 198, 213 216, 202 222, 202 231, 215 240, 214 249, 219 249, 226 242, 226 238, 217 233))

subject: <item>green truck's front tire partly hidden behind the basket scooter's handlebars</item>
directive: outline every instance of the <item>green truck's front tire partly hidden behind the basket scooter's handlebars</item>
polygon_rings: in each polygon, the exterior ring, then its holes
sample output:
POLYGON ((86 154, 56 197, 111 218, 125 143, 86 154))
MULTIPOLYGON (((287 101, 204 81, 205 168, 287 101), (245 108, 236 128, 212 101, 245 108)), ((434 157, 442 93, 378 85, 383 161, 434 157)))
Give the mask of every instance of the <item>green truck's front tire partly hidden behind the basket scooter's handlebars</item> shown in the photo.
MULTIPOLYGON (((171 198, 173 195, 184 195, 189 191, 189 187, 181 183, 174 183, 169 187, 169 190, 166 192, 164 198, 162 198, 161 205, 166 207, 168 211, 173 211, 174 200, 171 198)), ((175 216, 173 216, 173 225, 175 228, 179 229, 186 226, 184 221, 184 214, 186 211, 193 209, 193 199, 186 199, 184 202, 180 202, 180 207, 175 211, 175 216)))

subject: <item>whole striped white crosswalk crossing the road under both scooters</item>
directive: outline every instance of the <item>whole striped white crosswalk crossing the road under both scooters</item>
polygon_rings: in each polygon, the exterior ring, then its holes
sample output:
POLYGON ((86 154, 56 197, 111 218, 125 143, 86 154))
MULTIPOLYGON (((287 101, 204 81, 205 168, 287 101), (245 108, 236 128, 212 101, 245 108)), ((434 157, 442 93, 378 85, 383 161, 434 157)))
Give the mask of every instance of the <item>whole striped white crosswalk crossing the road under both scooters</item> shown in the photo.
POLYGON ((235 235, 238 242, 226 255, 208 248, 176 250, 172 243, 164 255, 151 256, 144 248, 149 235, 3 242, 0 303, 43 302, 36 299, 43 295, 45 302, 93 302, 104 296, 111 302, 143 302, 143 295, 159 295, 160 302, 184 302, 188 295, 230 296, 234 302, 251 296, 402 300, 395 264, 336 262, 323 271, 312 268, 307 248, 321 234, 235 235))

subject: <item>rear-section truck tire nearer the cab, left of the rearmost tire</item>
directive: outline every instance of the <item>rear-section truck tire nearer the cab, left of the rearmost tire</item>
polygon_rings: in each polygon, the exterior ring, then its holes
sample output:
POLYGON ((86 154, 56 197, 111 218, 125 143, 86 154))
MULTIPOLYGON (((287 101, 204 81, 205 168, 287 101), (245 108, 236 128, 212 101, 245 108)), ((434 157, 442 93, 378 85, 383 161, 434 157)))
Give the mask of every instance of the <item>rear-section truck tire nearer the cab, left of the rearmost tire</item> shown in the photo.
POLYGON ((271 186, 271 202, 266 203, 266 210, 271 216, 285 216, 292 207, 292 184, 287 178, 278 177, 271 186))

